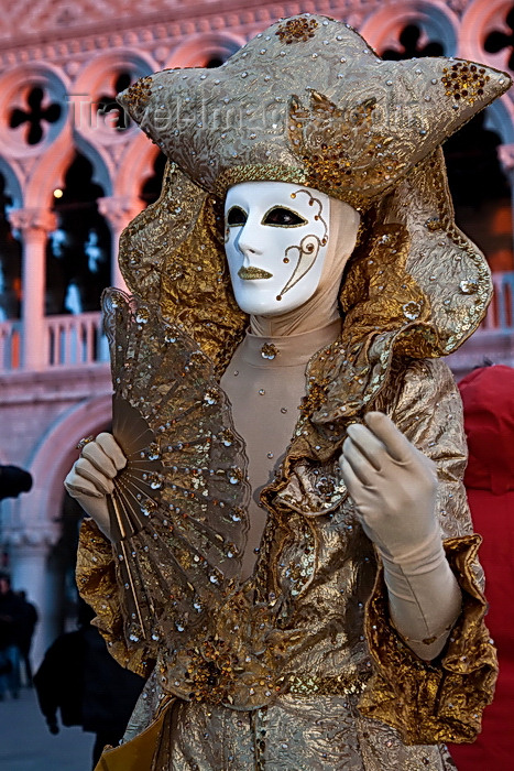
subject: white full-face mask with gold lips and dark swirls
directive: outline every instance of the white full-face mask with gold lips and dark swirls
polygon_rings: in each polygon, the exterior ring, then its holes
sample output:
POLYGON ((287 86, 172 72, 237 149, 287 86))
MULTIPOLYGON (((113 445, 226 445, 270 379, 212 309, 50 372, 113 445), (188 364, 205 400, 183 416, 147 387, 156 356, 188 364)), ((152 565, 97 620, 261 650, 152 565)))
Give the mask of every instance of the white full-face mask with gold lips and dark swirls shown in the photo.
POLYGON ((285 182, 243 182, 225 202, 227 260, 245 313, 277 316, 316 292, 329 238, 330 198, 285 182))

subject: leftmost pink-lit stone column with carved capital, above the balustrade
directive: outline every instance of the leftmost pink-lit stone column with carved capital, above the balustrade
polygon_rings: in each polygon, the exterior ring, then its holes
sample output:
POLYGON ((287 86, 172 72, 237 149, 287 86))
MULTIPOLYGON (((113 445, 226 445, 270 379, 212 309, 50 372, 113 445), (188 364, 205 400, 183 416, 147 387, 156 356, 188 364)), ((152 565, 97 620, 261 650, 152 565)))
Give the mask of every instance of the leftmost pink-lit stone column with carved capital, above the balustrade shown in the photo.
POLYGON ((46 241, 57 227, 57 217, 50 209, 28 208, 13 209, 9 219, 12 227, 21 231, 23 240, 22 367, 41 370, 47 363, 44 339, 46 241))

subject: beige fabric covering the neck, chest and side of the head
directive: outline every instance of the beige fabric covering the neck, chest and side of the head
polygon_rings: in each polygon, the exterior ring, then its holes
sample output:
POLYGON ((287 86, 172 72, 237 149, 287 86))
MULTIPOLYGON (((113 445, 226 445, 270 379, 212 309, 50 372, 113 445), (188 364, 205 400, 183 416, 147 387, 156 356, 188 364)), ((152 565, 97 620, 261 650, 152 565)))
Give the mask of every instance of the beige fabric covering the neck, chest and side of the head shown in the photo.
POLYGON ((341 329, 339 286, 358 228, 359 214, 330 198, 328 250, 313 297, 281 316, 252 316, 250 330, 221 379, 232 404, 236 430, 245 442, 252 487, 244 576, 253 569, 266 520, 259 493, 271 480, 293 436, 306 393, 306 366, 318 350, 333 343, 341 329))

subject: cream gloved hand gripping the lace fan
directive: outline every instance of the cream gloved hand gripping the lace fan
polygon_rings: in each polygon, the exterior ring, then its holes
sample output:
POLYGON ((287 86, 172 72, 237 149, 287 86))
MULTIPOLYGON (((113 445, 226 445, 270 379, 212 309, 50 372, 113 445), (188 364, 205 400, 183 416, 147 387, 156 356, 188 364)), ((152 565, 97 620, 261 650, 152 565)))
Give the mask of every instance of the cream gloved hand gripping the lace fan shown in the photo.
POLYGON ((110 537, 107 496, 114 489, 113 478, 125 465, 127 458, 112 434, 102 433, 84 447, 64 480, 72 498, 92 517, 107 537, 110 537))

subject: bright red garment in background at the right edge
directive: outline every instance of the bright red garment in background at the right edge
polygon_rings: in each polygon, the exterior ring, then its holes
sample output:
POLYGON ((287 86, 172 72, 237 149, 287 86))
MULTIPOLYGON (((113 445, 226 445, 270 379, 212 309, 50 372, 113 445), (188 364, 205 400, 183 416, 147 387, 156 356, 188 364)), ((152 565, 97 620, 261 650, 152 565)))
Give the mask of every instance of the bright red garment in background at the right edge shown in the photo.
POLYGON ((495 365, 459 383, 469 463, 464 476, 474 529, 482 535, 485 619, 499 655, 493 703, 472 745, 450 745, 459 771, 514 768, 514 369, 495 365))

